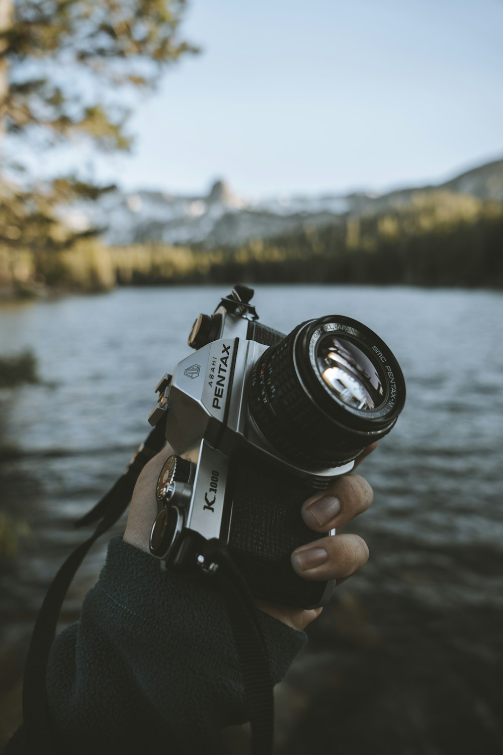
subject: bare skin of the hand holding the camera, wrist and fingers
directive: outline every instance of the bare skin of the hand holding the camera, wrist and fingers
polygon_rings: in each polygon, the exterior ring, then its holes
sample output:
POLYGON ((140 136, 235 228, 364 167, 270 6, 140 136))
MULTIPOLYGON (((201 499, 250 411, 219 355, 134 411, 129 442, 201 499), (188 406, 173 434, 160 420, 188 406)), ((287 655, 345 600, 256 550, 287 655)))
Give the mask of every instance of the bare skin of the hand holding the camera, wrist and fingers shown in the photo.
MULTIPOLYGON (((366 448, 354 466, 357 467, 363 458, 376 448, 376 445, 377 443, 374 443, 366 448)), ((130 545, 146 551, 146 553, 150 553, 150 531, 157 516, 155 485, 164 462, 171 454, 173 454, 173 448, 170 445, 165 446, 143 468, 134 488, 126 531, 122 539, 130 545)), ((328 532, 333 527, 336 527, 339 531, 354 516, 367 510, 372 499, 373 492, 368 482, 363 477, 351 473, 334 480, 327 490, 308 498, 302 505, 302 519, 314 532, 328 532), (327 498, 335 498, 336 501, 339 501, 339 507, 333 500, 327 502, 327 498), (321 503, 322 501, 324 504, 329 504, 328 512, 326 505, 324 506, 321 503)), ((340 584, 343 580, 351 577, 358 569, 361 569, 367 563, 368 557, 367 544, 358 535, 336 535, 335 537, 321 538, 314 543, 302 545, 302 547, 294 550, 292 566, 297 574, 304 579, 322 581, 336 579, 340 584), (314 549, 314 553, 311 549, 314 549), (315 558, 321 559, 322 556, 323 562, 315 565, 315 558)), ((261 611, 283 621, 284 624, 296 630, 305 629, 322 611, 322 609, 299 609, 295 606, 284 606, 281 603, 262 600, 257 600, 256 604, 261 611)))

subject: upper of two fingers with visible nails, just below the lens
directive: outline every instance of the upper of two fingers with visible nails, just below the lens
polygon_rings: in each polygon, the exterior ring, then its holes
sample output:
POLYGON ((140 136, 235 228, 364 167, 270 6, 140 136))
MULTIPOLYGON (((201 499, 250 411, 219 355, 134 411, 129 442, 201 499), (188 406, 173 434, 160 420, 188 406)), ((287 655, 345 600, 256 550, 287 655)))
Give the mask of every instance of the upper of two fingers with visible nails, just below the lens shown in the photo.
POLYGON ((366 511, 373 501, 373 490, 363 477, 347 474, 330 483, 302 504, 302 519, 314 532, 341 529, 354 516, 366 511))

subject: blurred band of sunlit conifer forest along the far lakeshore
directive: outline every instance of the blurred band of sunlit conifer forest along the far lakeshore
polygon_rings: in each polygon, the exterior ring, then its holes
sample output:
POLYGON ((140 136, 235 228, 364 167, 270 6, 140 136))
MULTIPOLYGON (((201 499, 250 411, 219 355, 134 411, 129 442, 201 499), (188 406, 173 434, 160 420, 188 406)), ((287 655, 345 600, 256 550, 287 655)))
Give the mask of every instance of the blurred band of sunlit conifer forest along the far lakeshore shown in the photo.
POLYGON ((25 294, 37 282, 56 291, 237 280, 501 288, 503 206, 448 191, 418 192, 400 209, 342 216, 321 228, 306 223, 296 233, 237 247, 107 247, 92 239, 10 261, 0 250, 2 279, 25 294))

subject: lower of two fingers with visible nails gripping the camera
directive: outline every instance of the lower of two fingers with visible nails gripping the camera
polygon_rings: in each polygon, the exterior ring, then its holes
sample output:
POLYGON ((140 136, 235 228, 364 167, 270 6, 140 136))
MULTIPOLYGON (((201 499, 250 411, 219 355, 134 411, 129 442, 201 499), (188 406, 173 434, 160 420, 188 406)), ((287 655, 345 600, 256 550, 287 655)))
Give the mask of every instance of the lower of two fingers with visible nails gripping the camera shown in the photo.
POLYGON ((359 535, 336 535, 302 545, 293 551, 294 571, 304 579, 345 579, 361 569, 369 558, 367 543, 359 535))

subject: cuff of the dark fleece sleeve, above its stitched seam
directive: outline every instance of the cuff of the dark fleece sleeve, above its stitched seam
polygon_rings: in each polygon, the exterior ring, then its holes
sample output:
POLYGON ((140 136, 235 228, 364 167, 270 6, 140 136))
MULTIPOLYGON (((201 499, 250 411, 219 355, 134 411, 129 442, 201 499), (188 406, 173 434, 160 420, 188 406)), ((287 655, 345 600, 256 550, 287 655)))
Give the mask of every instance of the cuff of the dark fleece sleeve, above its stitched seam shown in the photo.
MULTIPOLYGON (((241 675, 232 630, 222 596, 208 584, 186 575, 161 570, 161 562, 124 542, 109 543, 106 565, 94 590, 112 614, 123 614, 142 638, 160 633, 173 647, 192 656, 214 672, 241 675)), ((307 642, 304 632, 259 612, 259 624, 271 664, 271 677, 278 683, 307 642)))

